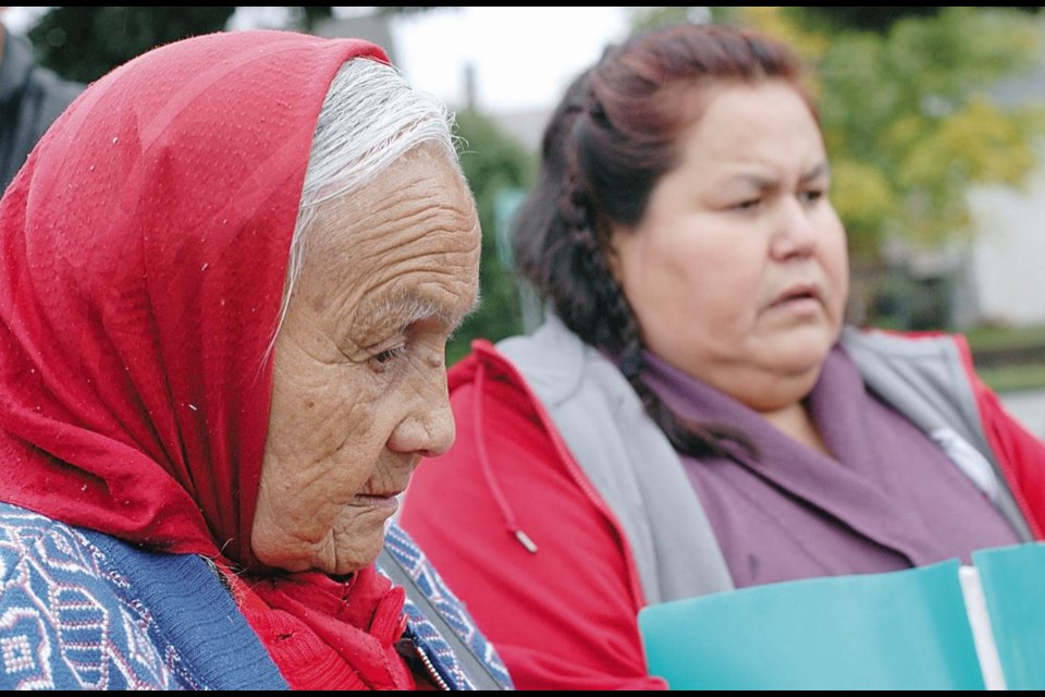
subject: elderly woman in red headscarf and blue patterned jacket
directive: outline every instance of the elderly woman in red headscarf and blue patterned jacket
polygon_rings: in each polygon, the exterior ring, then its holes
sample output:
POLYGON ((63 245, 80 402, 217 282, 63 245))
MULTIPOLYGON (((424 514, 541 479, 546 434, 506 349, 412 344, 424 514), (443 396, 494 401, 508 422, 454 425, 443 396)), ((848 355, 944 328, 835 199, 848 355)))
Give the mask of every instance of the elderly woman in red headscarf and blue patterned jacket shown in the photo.
POLYGON ((280 32, 167 46, 8 189, 0 685, 477 684, 373 564, 453 441, 443 350, 480 244, 444 108, 384 61, 280 32))

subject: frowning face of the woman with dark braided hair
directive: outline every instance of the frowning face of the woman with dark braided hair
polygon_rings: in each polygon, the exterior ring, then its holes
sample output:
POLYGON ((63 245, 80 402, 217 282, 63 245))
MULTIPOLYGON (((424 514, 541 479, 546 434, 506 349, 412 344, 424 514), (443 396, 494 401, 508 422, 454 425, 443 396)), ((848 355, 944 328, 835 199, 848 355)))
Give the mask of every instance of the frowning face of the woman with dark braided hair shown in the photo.
POLYGON ((759 411, 812 389, 848 294, 845 231, 823 138, 788 85, 720 88, 614 272, 648 346, 759 411))

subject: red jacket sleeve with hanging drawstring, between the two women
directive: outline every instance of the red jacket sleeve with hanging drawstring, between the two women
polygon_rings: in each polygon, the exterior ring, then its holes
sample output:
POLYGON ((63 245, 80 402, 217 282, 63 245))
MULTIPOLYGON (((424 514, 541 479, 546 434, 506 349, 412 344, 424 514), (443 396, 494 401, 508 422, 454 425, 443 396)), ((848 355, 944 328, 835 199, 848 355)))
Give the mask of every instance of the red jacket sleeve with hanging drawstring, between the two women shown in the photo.
POLYGON ((414 473, 401 524, 466 599, 518 689, 665 688, 647 674, 636 623, 644 602, 622 531, 514 368, 489 343, 474 347, 450 372, 457 440, 414 473), (482 437, 497 443, 496 480, 536 554, 506 526, 482 473, 471 408, 480 362, 482 437), (445 510, 414 500, 467 504, 447 524, 445 510))

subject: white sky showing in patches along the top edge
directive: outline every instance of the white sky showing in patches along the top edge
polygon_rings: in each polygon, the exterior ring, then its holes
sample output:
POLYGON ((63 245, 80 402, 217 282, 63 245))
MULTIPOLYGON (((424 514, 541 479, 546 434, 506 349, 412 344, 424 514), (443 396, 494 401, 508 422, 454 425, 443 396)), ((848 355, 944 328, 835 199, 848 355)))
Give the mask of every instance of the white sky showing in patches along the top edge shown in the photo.
MULTIPOLYGON (((4 14, 22 33, 46 8, 4 14)), ((241 8, 235 28, 278 25, 282 8, 241 8)), ((354 8, 344 8, 346 11, 354 8)), ((396 17, 398 68, 410 84, 464 105, 472 64, 477 106, 495 113, 550 109, 569 82, 628 28, 625 8, 459 8, 396 17)))

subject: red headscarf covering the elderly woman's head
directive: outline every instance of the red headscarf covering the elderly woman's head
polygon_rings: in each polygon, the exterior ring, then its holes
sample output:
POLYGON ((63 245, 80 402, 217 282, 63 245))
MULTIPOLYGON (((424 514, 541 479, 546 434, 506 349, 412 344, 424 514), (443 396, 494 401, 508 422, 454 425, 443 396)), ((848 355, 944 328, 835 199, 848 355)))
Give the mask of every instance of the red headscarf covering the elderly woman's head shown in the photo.
POLYGON ((257 567, 265 357, 316 120, 364 56, 385 60, 288 32, 188 39, 50 129, 0 201, 0 499, 257 567))

